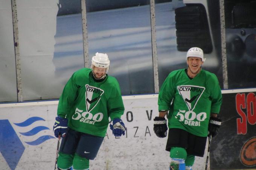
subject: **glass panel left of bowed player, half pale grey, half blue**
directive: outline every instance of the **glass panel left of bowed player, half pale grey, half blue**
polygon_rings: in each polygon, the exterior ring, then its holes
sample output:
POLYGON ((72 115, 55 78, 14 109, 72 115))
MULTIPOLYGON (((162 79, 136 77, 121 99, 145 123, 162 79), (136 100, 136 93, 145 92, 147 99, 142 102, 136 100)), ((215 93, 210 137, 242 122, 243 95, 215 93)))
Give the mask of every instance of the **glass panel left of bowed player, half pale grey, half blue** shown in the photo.
POLYGON ((17 1, 23 99, 57 99, 84 67, 81 2, 17 1))

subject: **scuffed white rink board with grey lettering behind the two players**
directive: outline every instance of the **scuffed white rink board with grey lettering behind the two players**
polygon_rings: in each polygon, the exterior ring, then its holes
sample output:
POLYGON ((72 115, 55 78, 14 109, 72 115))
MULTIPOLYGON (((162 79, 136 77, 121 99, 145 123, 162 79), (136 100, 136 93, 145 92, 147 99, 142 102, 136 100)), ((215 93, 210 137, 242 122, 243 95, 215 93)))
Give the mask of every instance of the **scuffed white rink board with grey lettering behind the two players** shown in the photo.
MULTIPOLYGON (((97 157, 90 161, 90 170, 168 170, 170 158, 169 152, 165 151, 167 137, 158 138, 153 131, 153 119, 158 115, 157 95, 148 95, 148 98, 123 96, 123 102, 125 112, 121 118, 125 122, 127 133, 121 138, 115 138, 108 128, 107 136, 104 138, 97 157), (133 115, 133 120, 131 115, 133 115)), ((35 141, 45 135, 53 136, 52 126, 58 101, 42 102, 43 105, 40 105, 40 102, 34 103, 36 105, 15 107, 3 107, 2 105, 0 107, 0 121, 9 121, 24 146, 24 152, 22 152, 18 164, 16 166, 12 164, 12 168, 15 170, 39 168, 48 170, 53 169, 55 165, 56 138, 50 138, 37 145, 26 142, 35 141), (24 122, 31 117, 40 117, 44 120, 35 121, 27 126, 17 126, 17 123, 24 122), (31 136, 20 134, 20 132, 28 132, 39 126, 49 129, 31 136)), ((0 127, 2 128, 2 126, 0 127)), ((3 135, 1 136, 0 140, 3 140, 1 139, 3 135)), ((15 148, 15 143, 12 146, 15 148)), ((204 169, 205 160, 206 154, 204 158, 196 157, 193 170, 204 169)), ((0 154, 1 170, 11 169, 8 166, 8 161, 10 160, 6 161, 0 154)))

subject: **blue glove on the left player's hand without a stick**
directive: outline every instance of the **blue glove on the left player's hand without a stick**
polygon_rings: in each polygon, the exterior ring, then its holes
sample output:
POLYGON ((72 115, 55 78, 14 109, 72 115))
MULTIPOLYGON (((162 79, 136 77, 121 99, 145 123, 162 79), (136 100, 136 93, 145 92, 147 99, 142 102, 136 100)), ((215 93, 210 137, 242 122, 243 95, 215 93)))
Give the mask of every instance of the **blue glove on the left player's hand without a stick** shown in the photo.
POLYGON ((110 129, 113 132, 113 135, 116 137, 125 135, 125 124, 123 121, 119 118, 115 118, 111 123, 110 123, 110 129))

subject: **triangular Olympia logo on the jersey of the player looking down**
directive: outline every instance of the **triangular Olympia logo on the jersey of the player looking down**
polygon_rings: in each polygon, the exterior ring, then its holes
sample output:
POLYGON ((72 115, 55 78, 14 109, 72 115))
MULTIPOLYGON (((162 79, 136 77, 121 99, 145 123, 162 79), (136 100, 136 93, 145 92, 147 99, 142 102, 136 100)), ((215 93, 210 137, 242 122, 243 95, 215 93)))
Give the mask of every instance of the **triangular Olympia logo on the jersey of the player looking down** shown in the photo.
POLYGON ((93 87, 88 84, 85 85, 86 92, 85 92, 85 102, 86 102, 86 109, 90 112, 99 102, 101 99, 101 95, 104 93, 104 90, 93 87))

